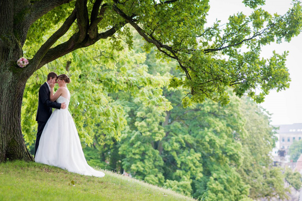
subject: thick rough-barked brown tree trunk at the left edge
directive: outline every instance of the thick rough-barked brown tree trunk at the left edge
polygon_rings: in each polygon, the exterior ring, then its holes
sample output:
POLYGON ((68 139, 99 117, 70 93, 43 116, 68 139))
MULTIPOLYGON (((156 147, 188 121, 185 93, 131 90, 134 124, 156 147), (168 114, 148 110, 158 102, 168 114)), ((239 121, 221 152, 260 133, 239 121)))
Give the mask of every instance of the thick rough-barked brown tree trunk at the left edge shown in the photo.
POLYGON ((32 72, 17 66, 27 30, 14 32, 13 6, 12 1, 0 1, 0 162, 34 160, 21 132, 22 98, 32 72))

